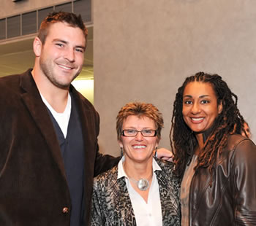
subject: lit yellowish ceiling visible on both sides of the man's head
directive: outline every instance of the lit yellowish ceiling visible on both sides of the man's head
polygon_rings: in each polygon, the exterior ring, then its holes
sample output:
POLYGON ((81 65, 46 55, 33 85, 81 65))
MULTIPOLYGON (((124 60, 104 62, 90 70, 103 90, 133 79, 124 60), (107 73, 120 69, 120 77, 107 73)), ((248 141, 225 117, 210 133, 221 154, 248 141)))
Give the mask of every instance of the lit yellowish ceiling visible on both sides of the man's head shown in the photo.
MULTIPOLYGON (((93 27, 88 27, 89 36, 83 62, 83 70, 78 78, 93 78, 93 27)), ((32 44, 34 35, 0 40, 0 77, 20 74, 34 66, 32 44)))

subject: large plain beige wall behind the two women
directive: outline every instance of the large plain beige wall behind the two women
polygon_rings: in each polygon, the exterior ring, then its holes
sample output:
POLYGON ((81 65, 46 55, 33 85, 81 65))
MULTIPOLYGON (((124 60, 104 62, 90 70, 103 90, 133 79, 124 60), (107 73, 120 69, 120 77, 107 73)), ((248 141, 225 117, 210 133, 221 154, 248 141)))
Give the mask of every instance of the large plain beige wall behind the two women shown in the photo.
POLYGON ((256 138, 255 0, 94 0, 94 105, 102 152, 118 155, 116 114, 147 101, 164 114, 169 148, 173 100, 184 78, 220 74, 256 138))

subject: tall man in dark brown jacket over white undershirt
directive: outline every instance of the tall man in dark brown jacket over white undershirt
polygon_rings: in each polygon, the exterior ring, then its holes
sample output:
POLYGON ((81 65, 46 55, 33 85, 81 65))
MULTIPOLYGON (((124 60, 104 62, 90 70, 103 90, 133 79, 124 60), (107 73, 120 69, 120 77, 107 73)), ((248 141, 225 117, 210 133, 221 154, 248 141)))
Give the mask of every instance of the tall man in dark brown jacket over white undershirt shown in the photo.
POLYGON ((48 15, 34 69, 0 79, 0 225, 88 225, 93 177, 118 158, 99 154, 99 115, 70 83, 87 30, 80 16, 48 15))

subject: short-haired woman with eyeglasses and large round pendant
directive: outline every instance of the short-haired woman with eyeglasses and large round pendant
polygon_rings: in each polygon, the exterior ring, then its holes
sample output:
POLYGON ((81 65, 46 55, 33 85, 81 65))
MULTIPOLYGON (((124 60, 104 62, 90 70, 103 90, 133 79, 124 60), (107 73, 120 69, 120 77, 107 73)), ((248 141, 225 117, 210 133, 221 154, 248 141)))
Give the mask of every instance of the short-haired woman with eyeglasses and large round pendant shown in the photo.
POLYGON ((94 179, 91 225, 180 225, 173 163, 154 158, 162 114, 152 104, 129 103, 116 117, 120 162, 94 179))

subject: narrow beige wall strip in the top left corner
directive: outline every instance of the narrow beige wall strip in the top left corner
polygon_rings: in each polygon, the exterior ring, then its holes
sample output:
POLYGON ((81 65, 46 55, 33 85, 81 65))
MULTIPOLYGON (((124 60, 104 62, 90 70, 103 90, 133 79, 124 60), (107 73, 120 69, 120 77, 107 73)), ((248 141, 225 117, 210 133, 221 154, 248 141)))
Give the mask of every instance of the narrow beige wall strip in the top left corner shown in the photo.
MULTIPOLYGON (((70 1, 70 0, 69 0, 70 1)), ((33 9, 51 7, 54 4, 69 2, 65 0, 22 0, 13 2, 12 0, 1 0, 0 18, 18 15, 21 12, 30 12, 33 9), (6 10, 8 9, 8 10, 6 10)))

